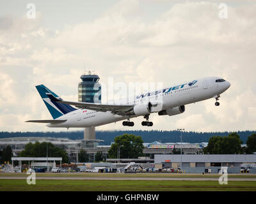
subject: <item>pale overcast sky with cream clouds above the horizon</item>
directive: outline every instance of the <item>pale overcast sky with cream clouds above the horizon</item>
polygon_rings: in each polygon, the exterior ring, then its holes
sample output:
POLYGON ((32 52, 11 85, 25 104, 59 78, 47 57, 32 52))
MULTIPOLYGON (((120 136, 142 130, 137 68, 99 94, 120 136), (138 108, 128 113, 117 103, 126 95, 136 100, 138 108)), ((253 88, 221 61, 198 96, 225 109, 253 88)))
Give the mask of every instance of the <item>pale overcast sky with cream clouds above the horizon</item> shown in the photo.
POLYGON ((255 130, 255 31, 255 1, 1 0, 0 131, 67 131, 24 121, 52 119, 35 85, 77 101, 84 67, 104 84, 108 77, 164 86, 202 77, 231 83, 218 107, 212 98, 173 117, 152 114, 153 127, 139 117, 134 127, 116 122, 97 130, 255 130), (36 18, 28 18, 28 3, 36 18), (220 3, 227 18, 220 18, 220 3))

